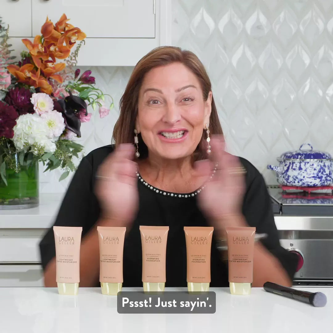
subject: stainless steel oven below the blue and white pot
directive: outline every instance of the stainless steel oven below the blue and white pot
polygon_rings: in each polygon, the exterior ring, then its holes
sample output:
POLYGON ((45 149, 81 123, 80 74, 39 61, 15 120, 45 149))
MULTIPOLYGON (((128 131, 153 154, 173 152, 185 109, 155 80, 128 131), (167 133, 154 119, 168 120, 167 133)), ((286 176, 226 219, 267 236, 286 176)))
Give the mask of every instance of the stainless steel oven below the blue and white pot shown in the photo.
POLYGON ((277 186, 269 192, 280 243, 299 256, 293 284, 333 286, 333 196, 284 196, 277 186))

